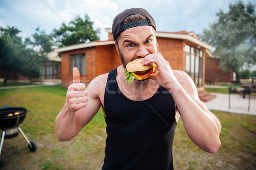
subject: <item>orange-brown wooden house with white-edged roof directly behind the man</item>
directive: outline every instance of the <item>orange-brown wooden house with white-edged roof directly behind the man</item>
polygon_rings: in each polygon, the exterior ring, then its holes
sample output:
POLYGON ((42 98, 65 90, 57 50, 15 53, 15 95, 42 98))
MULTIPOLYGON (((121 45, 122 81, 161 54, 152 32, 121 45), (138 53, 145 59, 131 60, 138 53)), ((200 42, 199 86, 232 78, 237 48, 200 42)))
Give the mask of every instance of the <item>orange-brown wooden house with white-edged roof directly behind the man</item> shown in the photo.
MULTIPOLYGON (((61 52, 62 86, 68 87, 73 80, 73 67, 79 68, 81 82, 88 83, 94 77, 122 65, 116 51, 111 28, 107 41, 92 41, 57 48, 61 52)), ((199 90, 204 90, 205 60, 212 46, 199 40, 194 32, 156 32, 160 53, 173 70, 185 71, 199 90)))

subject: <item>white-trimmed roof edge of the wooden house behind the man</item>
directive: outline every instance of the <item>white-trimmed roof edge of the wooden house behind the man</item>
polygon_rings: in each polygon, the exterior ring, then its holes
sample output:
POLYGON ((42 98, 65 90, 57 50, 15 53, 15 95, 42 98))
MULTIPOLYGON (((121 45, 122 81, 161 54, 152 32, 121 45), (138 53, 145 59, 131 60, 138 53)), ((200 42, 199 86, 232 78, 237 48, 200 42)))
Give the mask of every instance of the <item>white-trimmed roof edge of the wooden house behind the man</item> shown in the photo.
MULTIPOLYGON (((105 30, 108 33, 112 33, 111 28, 105 28, 105 30)), ((189 42, 195 43, 201 47, 206 48, 207 50, 212 50, 212 46, 204 43, 199 39, 199 37, 193 32, 186 32, 186 31, 177 31, 177 32, 163 32, 163 31, 156 31, 156 37, 164 37, 164 38, 172 38, 172 39, 183 39, 187 40, 189 42)), ((65 47, 57 48, 55 49, 55 52, 64 52, 64 51, 70 51, 70 50, 76 50, 80 48, 87 48, 87 47, 94 47, 98 45, 111 45, 114 44, 113 40, 107 40, 107 41, 91 41, 91 42, 83 42, 79 44, 74 45, 68 45, 65 47)))

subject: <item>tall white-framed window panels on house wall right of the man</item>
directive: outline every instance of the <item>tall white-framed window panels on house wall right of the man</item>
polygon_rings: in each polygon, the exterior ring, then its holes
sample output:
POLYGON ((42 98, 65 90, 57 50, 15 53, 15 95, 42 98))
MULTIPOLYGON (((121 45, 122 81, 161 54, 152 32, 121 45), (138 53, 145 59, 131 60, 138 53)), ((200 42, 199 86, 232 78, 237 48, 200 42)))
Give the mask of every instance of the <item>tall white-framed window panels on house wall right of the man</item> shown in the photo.
POLYGON ((192 78, 197 87, 202 86, 203 78, 203 51, 198 48, 185 45, 186 73, 192 78))

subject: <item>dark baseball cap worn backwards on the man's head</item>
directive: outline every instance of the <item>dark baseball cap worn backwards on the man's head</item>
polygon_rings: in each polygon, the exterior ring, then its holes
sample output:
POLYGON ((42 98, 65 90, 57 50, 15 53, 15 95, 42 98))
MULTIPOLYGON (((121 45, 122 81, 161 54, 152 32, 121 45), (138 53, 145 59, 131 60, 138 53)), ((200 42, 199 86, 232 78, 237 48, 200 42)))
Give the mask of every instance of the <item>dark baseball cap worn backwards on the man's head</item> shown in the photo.
POLYGON ((136 26, 152 26, 156 30, 156 24, 153 17, 144 8, 130 8, 122 11, 120 14, 116 15, 112 24, 112 34, 114 40, 121 34, 122 31, 128 28, 136 26), (127 17, 134 14, 140 14, 146 18, 146 20, 134 21, 128 24, 124 24, 127 17))

